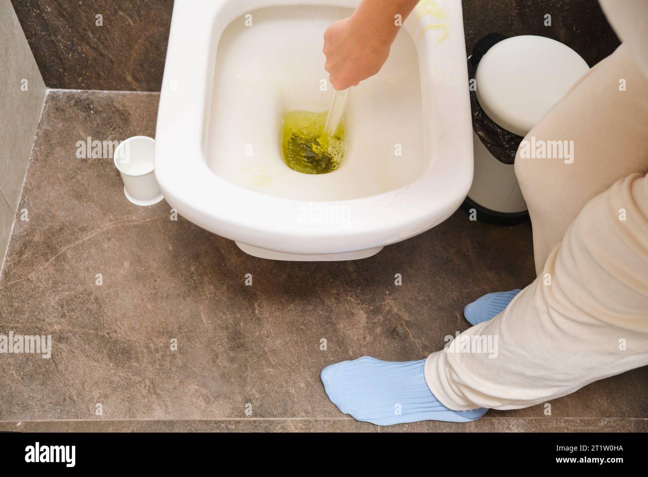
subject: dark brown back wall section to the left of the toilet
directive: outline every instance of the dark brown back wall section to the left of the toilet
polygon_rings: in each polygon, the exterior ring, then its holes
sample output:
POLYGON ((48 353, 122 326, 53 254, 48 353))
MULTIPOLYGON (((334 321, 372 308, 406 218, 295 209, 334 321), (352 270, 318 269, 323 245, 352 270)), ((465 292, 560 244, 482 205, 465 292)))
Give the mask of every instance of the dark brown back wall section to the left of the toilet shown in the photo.
POLYGON ((160 90, 173 0, 11 1, 48 88, 160 90))

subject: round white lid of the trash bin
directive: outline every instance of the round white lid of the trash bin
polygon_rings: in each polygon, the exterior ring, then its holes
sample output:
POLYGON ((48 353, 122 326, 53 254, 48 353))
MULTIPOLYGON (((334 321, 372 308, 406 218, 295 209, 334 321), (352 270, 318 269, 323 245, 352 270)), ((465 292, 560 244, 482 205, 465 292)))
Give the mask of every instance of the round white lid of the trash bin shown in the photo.
POLYGON ((492 46, 475 75, 477 100, 500 127, 526 136, 589 67, 561 42, 513 36, 492 46))

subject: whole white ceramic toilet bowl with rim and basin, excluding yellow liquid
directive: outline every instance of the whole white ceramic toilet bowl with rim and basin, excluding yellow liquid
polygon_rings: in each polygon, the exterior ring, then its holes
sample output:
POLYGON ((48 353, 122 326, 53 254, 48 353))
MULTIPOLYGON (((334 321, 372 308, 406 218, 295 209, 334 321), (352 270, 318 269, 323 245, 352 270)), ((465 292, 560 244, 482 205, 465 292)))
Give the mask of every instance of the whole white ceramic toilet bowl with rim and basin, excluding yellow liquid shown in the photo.
POLYGON ((179 214, 253 256, 353 260, 457 210, 473 160, 456 0, 422 0, 380 73, 351 90, 336 171, 283 162, 283 116, 329 107, 323 32, 358 3, 175 1, 155 172, 179 214))

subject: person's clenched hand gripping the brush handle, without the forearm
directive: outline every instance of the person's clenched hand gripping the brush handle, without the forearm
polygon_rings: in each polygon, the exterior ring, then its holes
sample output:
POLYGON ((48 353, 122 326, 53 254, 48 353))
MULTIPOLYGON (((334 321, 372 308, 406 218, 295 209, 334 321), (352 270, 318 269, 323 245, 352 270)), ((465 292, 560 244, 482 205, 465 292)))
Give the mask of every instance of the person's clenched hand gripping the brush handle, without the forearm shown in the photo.
POLYGON ((354 22, 351 16, 336 21, 324 32, 324 69, 336 90, 346 90, 375 75, 389 56, 393 38, 381 41, 367 27, 356 23, 361 22, 354 22))

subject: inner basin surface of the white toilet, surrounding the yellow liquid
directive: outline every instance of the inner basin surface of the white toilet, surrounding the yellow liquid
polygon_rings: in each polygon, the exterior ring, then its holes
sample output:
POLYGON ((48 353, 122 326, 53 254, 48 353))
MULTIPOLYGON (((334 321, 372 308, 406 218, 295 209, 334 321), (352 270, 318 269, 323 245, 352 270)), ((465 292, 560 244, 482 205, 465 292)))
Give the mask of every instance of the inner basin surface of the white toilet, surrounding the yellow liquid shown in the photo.
POLYGON ((283 161, 286 112, 329 107, 333 88, 323 68, 323 33, 350 14, 336 7, 273 6, 252 12, 253 27, 238 18, 226 28, 216 53, 207 132, 207 163, 216 174, 250 190, 312 201, 368 197, 421 175, 419 64, 404 31, 380 73, 350 95, 340 167, 307 175, 283 161))

